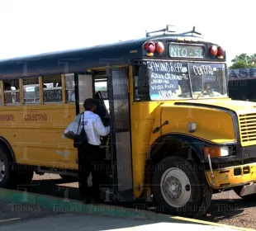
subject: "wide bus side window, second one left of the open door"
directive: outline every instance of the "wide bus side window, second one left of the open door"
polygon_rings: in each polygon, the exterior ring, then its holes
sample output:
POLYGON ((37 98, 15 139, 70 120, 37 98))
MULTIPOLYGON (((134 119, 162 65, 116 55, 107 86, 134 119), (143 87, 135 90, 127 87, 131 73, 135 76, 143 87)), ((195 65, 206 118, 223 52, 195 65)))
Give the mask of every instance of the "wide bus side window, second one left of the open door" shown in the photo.
POLYGON ((61 75, 43 76, 44 103, 62 103, 61 75))

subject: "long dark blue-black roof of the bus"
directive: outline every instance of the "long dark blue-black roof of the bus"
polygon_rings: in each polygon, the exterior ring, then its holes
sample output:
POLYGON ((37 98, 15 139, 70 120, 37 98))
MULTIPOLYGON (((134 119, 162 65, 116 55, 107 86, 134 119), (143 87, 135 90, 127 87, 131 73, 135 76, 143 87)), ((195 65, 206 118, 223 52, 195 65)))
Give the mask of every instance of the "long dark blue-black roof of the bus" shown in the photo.
POLYGON ((2 79, 12 79, 57 73, 85 73, 88 68, 111 64, 129 64, 130 59, 142 58, 142 45, 145 41, 177 40, 181 37, 203 41, 194 35, 153 35, 138 40, 2 59, 0 60, 0 75, 2 79))

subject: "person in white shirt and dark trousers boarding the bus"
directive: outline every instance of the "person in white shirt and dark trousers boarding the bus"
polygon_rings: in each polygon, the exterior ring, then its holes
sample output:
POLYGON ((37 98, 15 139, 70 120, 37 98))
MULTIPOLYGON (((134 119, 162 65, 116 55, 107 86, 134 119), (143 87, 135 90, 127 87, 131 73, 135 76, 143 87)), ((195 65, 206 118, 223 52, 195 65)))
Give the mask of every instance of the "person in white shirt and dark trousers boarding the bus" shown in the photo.
MULTIPOLYGON (((102 157, 100 152, 101 136, 107 136, 110 127, 105 127, 99 115, 95 114, 96 103, 88 98, 83 103, 83 128, 88 137, 88 144, 78 148, 79 192, 84 203, 89 203, 88 177, 92 173, 92 202, 100 201, 100 177, 102 157)), ((82 119, 81 119, 82 120, 82 119)))

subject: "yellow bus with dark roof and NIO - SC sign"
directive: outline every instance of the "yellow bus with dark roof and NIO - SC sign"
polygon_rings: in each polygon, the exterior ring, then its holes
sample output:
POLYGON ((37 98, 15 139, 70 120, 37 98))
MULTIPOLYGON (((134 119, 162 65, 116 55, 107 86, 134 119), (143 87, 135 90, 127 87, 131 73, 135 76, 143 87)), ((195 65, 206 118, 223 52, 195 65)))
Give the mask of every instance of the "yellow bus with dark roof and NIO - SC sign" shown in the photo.
POLYGON ((64 130, 92 97, 111 125, 101 147, 109 200, 153 195, 164 212, 194 216, 216 191, 254 198, 256 104, 228 97, 225 62, 225 50, 195 28, 170 26, 140 40, 2 60, 0 186, 30 184, 33 172, 76 180, 77 149, 64 130))

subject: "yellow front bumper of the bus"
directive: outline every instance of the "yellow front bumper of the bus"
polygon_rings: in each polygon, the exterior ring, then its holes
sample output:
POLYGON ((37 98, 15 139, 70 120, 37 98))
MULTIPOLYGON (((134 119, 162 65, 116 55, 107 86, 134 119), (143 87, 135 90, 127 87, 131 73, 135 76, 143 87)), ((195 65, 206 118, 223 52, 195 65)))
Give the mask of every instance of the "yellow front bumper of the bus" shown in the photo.
MULTIPOLYGON (((256 182, 256 163, 213 169, 213 174, 211 170, 207 170, 205 173, 209 186, 214 189, 245 186, 256 182)), ((246 186, 246 188, 248 187, 249 186, 246 186)), ((254 185, 251 185, 249 190, 253 190, 253 187, 254 185)), ((252 193, 254 192, 256 193, 256 191, 253 190, 252 193)))

